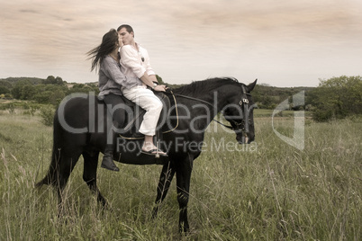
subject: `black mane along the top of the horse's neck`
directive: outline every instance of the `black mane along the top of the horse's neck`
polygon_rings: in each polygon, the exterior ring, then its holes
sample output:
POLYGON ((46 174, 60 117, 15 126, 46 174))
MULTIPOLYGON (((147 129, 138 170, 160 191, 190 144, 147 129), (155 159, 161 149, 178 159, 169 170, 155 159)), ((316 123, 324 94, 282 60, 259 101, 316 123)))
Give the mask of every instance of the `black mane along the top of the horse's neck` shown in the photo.
POLYGON ((174 90, 176 94, 186 94, 188 96, 197 97, 201 93, 209 93, 215 88, 220 87, 225 84, 235 84, 239 81, 236 78, 232 77, 222 77, 222 78, 209 78, 200 81, 193 81, 189 85, 184 85, 174 90))

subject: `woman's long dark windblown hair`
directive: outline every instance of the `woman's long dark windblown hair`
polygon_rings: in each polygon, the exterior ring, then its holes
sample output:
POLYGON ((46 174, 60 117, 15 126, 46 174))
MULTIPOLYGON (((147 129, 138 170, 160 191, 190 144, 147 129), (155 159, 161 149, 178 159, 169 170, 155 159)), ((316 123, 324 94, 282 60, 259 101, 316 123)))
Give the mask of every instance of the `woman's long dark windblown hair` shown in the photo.
POLYGON ((104 34, 101 45, 86 53, 89 56, 88 59, 93 59, 91 71, 94 69, 95 71, 97 70, 104 57, 112 53, 113 50, 117 47, 117 43, 118 32, 112 29, 104 34))

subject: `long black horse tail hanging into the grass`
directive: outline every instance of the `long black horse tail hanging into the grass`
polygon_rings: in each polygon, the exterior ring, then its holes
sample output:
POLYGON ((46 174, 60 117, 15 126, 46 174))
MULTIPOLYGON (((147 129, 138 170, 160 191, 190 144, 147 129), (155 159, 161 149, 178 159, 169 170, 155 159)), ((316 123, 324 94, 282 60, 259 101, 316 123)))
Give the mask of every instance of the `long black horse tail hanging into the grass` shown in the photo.
POLYGON ((59 138, 61 126, 58 121, 58 112, 55 112, 53 120, 53 149, 51 154, 51 162, 48 173, 41 180, 41 182, 36 183, 35 187, 41 188, 42 185, 56 185, 59 181, 59 161, 60 161, 60 148, 59 148, 59 138))

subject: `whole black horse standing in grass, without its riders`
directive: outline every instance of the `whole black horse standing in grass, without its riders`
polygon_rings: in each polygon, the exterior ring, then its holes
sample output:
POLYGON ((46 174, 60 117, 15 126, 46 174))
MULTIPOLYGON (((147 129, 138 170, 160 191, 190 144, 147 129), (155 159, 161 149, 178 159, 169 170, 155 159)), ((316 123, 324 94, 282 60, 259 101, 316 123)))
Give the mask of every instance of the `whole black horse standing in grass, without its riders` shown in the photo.
MULTIPOLYGON (((231 123, 228 128, 236 133, 240 144, 249 144, 255 138, 253 107, 250 92, 257 80, 250 85, 240 84, 233 78, 213 78, 193 82, 167 94, 171 102, 170 115, 167 117, 168 131, 162 135, 163 149, 168 158, 163 161, 160 174, 156 208, 165 199, 170 183, 176 174, 177 201, 179 204, 180 231, 189 229, 187 204, 189 200, 190 178, 195 158, 200 156, 204 141, 204 131, 218 112, 231 123)), ((80 94, 77 98, 63 101, 54 117, 53 151, 48 174, 37 183, 52 184, 57 188, 61 203, 62 190, 68 182, 69 174, 80 155, 84 157, 83 179, 97 200, 106 205, 104 196, 96 185, 98 156, 107 143, 107 128, 104 103, 95 96, 80 94)), ((126 117, 124 117, 126 119, 126 117)), ((122 134, 121 134, 122 135, 122 134)), ((128 152, 128 143, 117 139, 118 149, 113 155, 115 161, 126 164, 155 164, 154 158, 141 158, 128 152), (121 144, 120 144, 121 143, 121 144)), ((135 140, 137 141, 139 140, 135 140)))

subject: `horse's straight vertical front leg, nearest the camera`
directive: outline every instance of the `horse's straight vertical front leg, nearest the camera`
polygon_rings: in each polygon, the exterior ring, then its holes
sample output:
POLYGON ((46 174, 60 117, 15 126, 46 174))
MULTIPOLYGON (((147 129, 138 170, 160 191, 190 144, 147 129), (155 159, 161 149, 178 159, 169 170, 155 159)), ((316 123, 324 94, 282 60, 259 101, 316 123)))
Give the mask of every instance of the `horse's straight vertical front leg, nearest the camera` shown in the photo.
POLYGON ((187 220, 187 204, 193 163, 194 158, 188 156, 184 161, 179 161, 176 164, 177 201, 180 210, 178 228, 180 232, 185 233, 190 229, 187 220))

